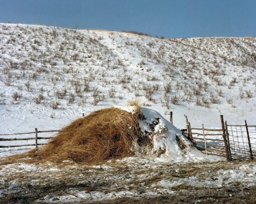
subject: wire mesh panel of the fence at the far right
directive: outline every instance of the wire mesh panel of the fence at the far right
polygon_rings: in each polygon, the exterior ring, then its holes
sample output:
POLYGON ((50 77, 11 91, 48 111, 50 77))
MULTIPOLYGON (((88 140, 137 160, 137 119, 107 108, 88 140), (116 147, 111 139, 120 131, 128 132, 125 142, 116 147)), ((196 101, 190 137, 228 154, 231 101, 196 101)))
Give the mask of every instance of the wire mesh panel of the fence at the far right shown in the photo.
POLYGON ((233 159, 256 155, 256 126, 227 125, 227 131, 233 159))

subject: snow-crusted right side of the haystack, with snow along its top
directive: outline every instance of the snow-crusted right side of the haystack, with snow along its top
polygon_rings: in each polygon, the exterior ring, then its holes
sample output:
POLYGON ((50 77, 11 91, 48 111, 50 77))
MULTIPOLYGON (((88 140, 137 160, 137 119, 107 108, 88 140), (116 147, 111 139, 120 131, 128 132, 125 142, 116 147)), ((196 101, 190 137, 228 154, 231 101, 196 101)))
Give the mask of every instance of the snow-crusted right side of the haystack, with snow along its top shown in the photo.
MULTIPOLYGON (((133 114, 136 110, 133 107, 118 108, 133 114)), ((142 107, 140 111, 139 131, 131 147, 134 155, 168 159, 168 161, 205 159, 206 155, 198 151, 191 141, 183 136, 182 131, 167 121, 159 112, 142 107)))

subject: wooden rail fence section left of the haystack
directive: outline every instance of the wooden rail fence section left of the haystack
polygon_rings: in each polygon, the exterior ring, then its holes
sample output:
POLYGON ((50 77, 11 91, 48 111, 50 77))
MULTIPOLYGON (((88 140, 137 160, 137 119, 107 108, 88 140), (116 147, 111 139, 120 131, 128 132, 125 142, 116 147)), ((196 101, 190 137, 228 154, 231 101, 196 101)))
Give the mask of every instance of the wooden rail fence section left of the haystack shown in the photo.
POLYGON ((0 136, 12 136, 12 135, 21 135, 21 134, 34 134, 34 137, 26 137, 26 138, 0 138, 0 141, 27 141, 27 140, 34 140, 34 144, 20 144, 20 145, 0 145, 0 148, 12 148, 12 147, 26 147, 26 146, 35 146, 38 147, 38 140, 48 140, 52 137, 38 137, 38 133, 50 133, 50 132, 59 132, 61 130, 47 130, 47 131, 38 131, 35 128, 34 132, 27 132, 27 133, 12 133, 12 134, 0 134, 0 136))

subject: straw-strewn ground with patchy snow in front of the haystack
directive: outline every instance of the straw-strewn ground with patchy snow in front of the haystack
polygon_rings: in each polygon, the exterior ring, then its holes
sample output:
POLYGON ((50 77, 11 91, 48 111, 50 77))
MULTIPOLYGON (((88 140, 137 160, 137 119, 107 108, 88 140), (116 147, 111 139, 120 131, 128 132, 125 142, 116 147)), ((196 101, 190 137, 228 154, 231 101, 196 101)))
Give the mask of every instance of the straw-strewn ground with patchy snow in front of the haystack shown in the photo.
POLYGON ((2 165, 0 203, 256 203, 254 166, 255 160, 2 165))

